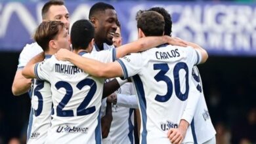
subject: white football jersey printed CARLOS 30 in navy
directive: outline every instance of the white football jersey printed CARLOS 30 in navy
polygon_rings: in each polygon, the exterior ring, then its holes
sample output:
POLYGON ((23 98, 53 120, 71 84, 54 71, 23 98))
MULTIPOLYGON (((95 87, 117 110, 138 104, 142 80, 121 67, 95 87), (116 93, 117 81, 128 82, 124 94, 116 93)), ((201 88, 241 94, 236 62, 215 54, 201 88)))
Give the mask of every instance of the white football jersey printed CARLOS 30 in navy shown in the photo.
MULTIPOLYGON (((170 143, 169 128, 177 128, 188 99, 192 67, 201 62, 192 47, 161 45, 125 56, 117 62, 123 77, 133 77, 140 107, 140 143, 170 143)), ((194 142, 191 128, 184 142, 194 142)))

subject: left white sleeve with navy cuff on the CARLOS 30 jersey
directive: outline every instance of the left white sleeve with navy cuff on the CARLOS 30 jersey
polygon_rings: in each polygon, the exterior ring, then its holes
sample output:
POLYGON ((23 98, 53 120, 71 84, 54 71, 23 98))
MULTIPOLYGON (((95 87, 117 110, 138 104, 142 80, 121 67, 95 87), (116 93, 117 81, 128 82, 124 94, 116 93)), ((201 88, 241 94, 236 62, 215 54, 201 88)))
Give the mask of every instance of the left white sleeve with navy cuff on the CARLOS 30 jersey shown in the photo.
POLYGON ((118 59, 117 62, 119 62, 123 70, 122 79, 133 77, 134 75, 139 73, 140 69, 143 67, 144 64, 142 60, 142 54, 140 53, 134 53, 124 56, 123 58, 118 59))

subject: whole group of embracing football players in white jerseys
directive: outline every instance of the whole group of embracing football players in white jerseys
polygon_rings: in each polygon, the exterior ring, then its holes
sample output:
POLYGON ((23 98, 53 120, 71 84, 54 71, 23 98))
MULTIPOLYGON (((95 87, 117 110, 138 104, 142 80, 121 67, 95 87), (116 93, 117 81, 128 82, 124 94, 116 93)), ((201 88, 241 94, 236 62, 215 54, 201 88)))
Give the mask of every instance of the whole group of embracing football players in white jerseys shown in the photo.
POLYGON ((138 107, 140 143, 215 143, 194 66, 207 60, 207 52, 170 37, 165 9, 140 10, 139 39, 120 41, 118 48, 113 40, 121 37, 121 27, 107 3, 93 5, 89 20, 77 20, 70 34, 62 1, 45 3, 42 18, 12 84, 14 95, 30 90, 28 143, 135 143, 138 107))

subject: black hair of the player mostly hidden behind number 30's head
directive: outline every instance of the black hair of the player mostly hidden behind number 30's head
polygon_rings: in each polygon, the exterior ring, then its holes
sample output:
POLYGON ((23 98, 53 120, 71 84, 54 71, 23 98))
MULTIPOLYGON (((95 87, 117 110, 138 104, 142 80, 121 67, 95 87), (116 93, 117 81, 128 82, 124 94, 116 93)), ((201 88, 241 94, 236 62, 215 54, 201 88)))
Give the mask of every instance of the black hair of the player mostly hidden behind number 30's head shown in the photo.
POLYGON ((169 14, 167 10, 163 9, 163 7, 152 7, 149 10, 158 12, 163 16, 163 19, 165 20, 164 35, 171 35, 171 27, 173 25, 173 22, 171 21, 171 14, 169 14))

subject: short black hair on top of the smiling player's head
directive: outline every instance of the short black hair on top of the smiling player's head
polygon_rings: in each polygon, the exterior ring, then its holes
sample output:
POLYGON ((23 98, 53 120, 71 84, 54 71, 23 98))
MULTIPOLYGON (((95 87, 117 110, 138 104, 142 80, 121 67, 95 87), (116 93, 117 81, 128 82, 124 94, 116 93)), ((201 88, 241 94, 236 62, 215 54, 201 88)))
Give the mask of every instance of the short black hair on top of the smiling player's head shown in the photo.
POLYGON ((112 5, 108 4, 108 3, 103 3, 103 2, 98 2, 95 3, 95 5, 93 5, 90 9, 89 12, 89 19, 91 20, 92 16, 95 16, 95 14, 99 11, 105 11, 106 9, 115 9, 112 5))

